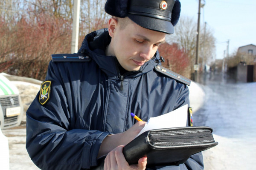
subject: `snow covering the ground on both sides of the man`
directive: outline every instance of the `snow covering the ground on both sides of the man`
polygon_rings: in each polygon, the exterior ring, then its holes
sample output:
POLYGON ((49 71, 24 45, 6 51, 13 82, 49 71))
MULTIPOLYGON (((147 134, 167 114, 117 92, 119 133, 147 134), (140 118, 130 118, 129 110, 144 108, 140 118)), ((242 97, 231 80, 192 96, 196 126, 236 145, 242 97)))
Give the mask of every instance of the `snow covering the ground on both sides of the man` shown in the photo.
MULTIPOLYGON (((219 77, 219 75, 215 75, 219 77)), ((13 81, 28 107, 40 84, 13 81)), ((253 170, 256 153, 256 82, 231 83, 207 77, 192 82, 190 106, 194 125, 212 127, 218 145, 203 152, 205 170, 253 170)), ((24 108, 26 109, 26 108, 24 108)), ((2 130, 9 140, 10 170, 38 170, 26 152, 26 116, 18 128, 2 130)))

